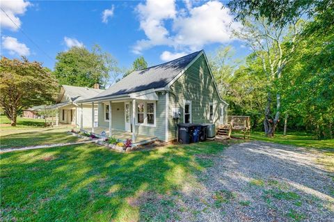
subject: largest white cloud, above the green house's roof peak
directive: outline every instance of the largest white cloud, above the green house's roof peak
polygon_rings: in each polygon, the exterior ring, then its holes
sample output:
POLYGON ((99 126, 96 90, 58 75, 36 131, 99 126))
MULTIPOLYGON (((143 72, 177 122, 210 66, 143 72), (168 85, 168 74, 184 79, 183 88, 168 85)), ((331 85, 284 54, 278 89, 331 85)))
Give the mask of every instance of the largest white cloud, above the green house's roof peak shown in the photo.
POLYGON ((186 8, 175 9, 175 1, 147 1, 137 6, 140 28, 146 39, 138 40, 134 53, 166 45, 182 51, 196 51, 211 43, 226 43, 234 40, 232 29, 241 26, 233 22, 230 10, 219 1, 208 1, 192 6, 184 1, 186 8), (172 26, 166 28, 167 22, 172 26))

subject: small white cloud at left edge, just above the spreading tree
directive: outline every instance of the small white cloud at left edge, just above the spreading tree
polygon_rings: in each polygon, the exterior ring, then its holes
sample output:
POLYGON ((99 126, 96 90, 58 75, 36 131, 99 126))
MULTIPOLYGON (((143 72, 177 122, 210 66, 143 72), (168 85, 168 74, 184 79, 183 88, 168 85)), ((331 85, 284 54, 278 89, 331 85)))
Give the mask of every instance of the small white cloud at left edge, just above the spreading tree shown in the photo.
POLYGON ((9 51, 9 54, 16 54, 18 56, 30 55, 30 49, 26 47, 24 43, 18 42, 17 38, 3 36, 1 40, 1 47, 3 47, 3 49, 7 49, 9 51))

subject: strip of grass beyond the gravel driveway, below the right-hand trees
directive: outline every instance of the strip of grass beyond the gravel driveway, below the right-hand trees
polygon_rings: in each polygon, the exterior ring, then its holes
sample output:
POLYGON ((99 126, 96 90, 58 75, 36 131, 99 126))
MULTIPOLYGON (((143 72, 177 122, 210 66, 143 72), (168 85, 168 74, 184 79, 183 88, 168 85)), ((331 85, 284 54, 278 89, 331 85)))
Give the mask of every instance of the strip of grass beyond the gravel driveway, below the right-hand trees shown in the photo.
MULTIPOLYGON (((244 138, 244 134, 241 134, 240 132, 232 132, 232 136, 244 138)), ((276 132, 273 138, 268 138, 264 135, 264 132, 250 132, 250 139, 285 145, 296 145, 305 148, 334 149, 334 139, 318 141, 315 136, 306 134, 305 132, 288 132, 287 136, 283 136, 282 133, 276 132)))

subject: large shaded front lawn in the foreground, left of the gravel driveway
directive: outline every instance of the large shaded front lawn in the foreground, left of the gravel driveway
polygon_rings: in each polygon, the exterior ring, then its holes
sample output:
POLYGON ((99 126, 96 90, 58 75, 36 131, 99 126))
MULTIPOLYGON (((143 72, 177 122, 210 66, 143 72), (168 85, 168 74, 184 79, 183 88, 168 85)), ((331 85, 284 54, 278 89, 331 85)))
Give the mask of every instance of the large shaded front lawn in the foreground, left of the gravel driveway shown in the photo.
POLYGON ((93 144, 1 154, 4 221, 166 221, 221 143, 118 153, 93 144))

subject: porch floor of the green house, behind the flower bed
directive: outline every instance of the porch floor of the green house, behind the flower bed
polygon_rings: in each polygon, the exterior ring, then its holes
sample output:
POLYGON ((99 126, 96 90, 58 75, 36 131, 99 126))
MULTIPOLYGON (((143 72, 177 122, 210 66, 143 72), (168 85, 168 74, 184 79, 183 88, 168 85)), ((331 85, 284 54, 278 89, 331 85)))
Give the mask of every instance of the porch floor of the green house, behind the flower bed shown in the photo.
MULTIPOLYGON (((85 127, 84 131, 91 132, 91 127, 85 127)), ((102 132, 106 132, 106 136, 109 136, 109 128, 106 127, 94 127, 94 134, 97 134, 97 136, 102 136, 102 132)), ((120 140, 126 140, 127 138, 132 139, 132 132, 127 132, 125 130, 121 129, 111 129, 111 136, 118 138, 120 140)), ((154 141, 157 139, 157 136, 150 136, 150 135, 144 135, 144 134, 137 134, 136 133, 136 141, 135 144, 145 144, 145 141, 150 143, 151 141, 154 141)))

